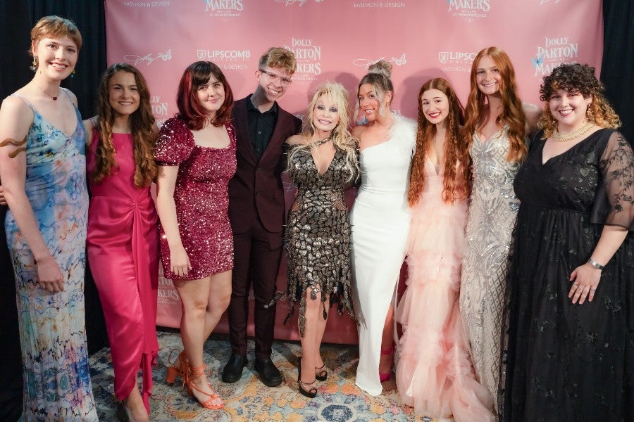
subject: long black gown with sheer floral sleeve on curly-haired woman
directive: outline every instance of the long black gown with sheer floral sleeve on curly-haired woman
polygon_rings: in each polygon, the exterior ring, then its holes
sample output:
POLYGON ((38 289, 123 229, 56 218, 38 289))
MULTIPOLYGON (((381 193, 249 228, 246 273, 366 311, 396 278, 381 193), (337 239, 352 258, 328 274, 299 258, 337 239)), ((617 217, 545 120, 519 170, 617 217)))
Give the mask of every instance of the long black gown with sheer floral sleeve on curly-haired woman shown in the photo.
POLYGON ((538 133, 515 179, 506 421, 634 421, 634 158, 600 129, 542 164, 538 133), (570 274, 606 225, 628 230, 592 302, 570 274))

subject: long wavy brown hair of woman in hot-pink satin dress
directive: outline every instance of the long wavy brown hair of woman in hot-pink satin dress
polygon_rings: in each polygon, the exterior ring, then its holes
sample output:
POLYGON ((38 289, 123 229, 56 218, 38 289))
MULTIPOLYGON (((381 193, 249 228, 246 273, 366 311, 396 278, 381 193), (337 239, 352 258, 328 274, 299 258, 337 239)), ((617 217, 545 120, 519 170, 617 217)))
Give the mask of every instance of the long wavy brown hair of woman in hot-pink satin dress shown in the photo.
POLYGON ((111 65, 99 83, 97 98, 97 132, 100 142, 97 144, 95 168, 92 180, 99 182, 118 170, 115 150, 112 142, 112 125, 115 112, 110 106, 110 79, 116 72, 130 72, 135 75, 135 83, 139 92, 139 108, 130 115, 132 138, 134 139, 135 186, 149 186, 156 179, 156 162, 154 162, 154 142, 158 135, 154 125, 154 115, 149 102, 149 89, 145 78, 137 68, 127 63, 111 65))

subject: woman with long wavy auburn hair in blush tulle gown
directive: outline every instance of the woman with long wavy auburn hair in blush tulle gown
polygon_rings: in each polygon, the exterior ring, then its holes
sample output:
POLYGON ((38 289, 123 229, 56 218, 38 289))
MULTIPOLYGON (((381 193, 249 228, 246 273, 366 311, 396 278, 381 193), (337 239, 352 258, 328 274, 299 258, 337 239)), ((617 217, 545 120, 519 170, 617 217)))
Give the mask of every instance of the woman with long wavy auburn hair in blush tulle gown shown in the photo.
POLYGON ((456 422, 495 421, 489 392, 475 381, 458 307, 470 165, 459 136, 463 108, 445 79, 418 95, 418 133, 408 201, 407 288, 396 380, 417 414, 456 422))

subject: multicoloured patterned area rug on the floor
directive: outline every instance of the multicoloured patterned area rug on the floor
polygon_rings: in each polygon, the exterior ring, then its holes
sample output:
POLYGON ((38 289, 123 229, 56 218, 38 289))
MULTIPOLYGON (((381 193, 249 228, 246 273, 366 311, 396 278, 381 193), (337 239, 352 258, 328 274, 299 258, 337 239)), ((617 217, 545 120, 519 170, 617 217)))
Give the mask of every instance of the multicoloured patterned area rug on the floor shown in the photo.
MULTIPOLYGON (((154 368, 154 395, 150 399, 152 421, 333 421, 389 422, 435 421, 420 417, 414 409, 404 407, 396 391, 394 378, 383 383, 383 395, 371 397, 354 385, 359 352, 356 346, 323 345, 322 357, 328 369, 328 381, 320 382, 319 392, 308 399, 297 391, 297 342, 273 343, 272 359, 285 380, 279 387, 268 388, 253 369, 254 345, 249 340, 249 365, 237 383, 220 381, 220 372, 230 353, 225 335, 212 335, 205 343, 205 362, 211 370, 211 384, 225 402, 222 410, 201 407, 181 388, 180 378, 174 385, 165 383, 168 354, 182 348, 178 333, 159 332, 159 364, 154 368)), ((101 421, 126 421, 123 408, 113 394, 113 369, 110 350, 103 349, 90 358, 92 388, 101 421)), ((139 378, 140 383, 140 378, 139 378)))

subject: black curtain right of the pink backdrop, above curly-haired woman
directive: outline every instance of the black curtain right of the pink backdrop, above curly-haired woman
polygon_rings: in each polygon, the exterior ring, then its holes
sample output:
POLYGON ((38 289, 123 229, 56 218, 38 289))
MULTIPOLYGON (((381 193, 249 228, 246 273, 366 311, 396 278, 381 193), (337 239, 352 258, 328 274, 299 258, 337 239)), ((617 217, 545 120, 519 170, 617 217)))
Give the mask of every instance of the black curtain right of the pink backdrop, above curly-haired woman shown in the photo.
POLYGON ((634 1, 603 0, 603 19, 601 80, 634 145, 634 1))

